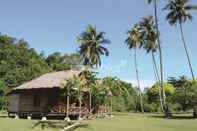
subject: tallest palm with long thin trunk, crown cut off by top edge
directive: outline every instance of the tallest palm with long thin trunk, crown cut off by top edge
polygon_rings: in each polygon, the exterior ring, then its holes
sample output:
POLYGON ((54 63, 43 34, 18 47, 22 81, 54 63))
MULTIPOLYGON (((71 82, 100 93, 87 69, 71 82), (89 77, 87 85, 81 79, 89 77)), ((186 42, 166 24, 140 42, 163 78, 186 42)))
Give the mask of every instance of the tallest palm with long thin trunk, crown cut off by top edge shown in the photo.
POLYGON ((165 95, 165 89, 164 89, 164 73, 163 73, 163 51, 162 51, 162 46, 161 46, 161 41, 160 41, 160 32, 159 32, 159 24, 158 24, 158 0, 148 0, 148 3, 154 3, 154 16, 155 16, 155 25, 156 25, 156 32, 157 32, 157 43, 158 43, 158 48, 159 48, 159 58, 160 58, 160 85, 162 89, 162 98, 163 98, 163 106, 164 106, 164 111, 165 115, 167 116, 167 104, 166 104, 166 95, 165 95))

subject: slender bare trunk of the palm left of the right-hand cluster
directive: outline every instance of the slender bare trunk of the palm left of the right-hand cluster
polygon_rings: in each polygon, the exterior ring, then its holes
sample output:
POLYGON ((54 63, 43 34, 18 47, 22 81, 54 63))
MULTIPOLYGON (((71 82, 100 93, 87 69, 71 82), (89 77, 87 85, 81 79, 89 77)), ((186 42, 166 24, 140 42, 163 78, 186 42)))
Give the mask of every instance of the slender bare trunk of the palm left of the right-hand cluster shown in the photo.
POLYGON ((134 51, 134 59, 135 59, 135 71, 136 71, 136 78, 137 78, 137 86, 138 86, 139 95, 140 95, 141 112, 144 113, 143 98, 142 98, 142 92, 141 92, 141 89, 140 89, 140 81, 139 81, 139 74, 138 74, 136 49, 134 51))

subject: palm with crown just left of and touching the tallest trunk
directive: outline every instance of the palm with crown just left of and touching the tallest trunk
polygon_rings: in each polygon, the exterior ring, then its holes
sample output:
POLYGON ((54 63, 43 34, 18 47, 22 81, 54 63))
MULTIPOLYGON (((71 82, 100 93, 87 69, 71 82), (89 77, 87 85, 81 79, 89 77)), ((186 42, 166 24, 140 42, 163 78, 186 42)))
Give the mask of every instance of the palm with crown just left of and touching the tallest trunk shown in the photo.
MULTIPOLYGON (((140 22, 140 28, 143 34, 143 48, 146 50, 147 53, 151 53, 152 55, 152 63, 153 63, 153 71, 154 71, 155 79, 156 82, 160 83, 161 80, 155 59, 155 53, 158 50, 158 43, 157 43, 158 35, 156 31, 155 21, 153 20, 153 16, 144 17, 143 20, 140 22)), ((161 96, 161 88, 159 88, 159 98, 160 98, 161 110, 164 112, 162 96, 161 96)))

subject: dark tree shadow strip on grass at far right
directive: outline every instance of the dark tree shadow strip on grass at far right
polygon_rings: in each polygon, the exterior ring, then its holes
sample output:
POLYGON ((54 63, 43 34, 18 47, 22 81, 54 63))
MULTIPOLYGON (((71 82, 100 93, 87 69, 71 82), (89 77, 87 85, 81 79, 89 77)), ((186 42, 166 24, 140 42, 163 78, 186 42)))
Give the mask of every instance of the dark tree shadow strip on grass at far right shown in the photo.
POLYGON ((166 118, 164 115, 150 115, 153 118, 160 118, 160 119, 174 119, 174 120, 190 120, 196 119, 192 115, 172 115, 171 117, 166 118))

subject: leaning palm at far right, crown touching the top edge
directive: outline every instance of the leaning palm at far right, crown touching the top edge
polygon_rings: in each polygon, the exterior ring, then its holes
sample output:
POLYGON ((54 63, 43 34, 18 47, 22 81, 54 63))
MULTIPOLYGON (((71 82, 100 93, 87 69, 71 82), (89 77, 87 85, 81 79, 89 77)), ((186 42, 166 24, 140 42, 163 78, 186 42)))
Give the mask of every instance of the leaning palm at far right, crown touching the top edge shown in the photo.
POLYGON ((197 6, 193 6, 189 4, 189 0, 169 0, 168 4, 164 8, 164 10, 168 11, 168 14, 166 16, 166 20, 168 21, 168 23, 170 25, 179 24, 181 31, 181 38, 187 56, 189 69, 192 75, 192 79, 194 80, 195 79, 194 71, 192 68, 188 47, 183 33, 183 23, 187 22, 188 20, 192 20, 192 15, 190 11, 193 9, 197 9, 197 6))

